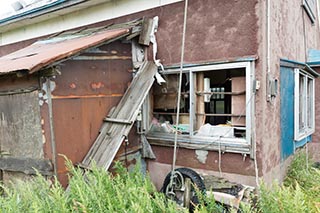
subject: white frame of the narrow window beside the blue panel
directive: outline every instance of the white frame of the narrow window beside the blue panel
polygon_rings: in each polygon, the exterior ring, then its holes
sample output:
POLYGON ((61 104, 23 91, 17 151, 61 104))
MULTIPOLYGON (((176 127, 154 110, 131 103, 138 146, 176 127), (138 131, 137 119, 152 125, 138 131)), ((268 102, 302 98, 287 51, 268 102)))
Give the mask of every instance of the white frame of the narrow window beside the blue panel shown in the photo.
POLYGON ((294 140, 300 141, 309 135, 313 134, 315 131, 315 78, 308 74, 306 71, 302 69, 295 68, 294 69, 295 74, 295 86, 294 86, 294 140), (303 93, 300 94, 300 76, 303 76, 304 81, 304 88, 303 93), (309 82, 312 83, 311 87, 309 85, 309 82), (312 94, 308 94, 308 92, 312 91, 312 94), (302 107, 304 108, 302 110, 302 119, 304 121, 303 127, 300 128, 301 120, 300 120, 300 98, 304 100, 304 103, 302 107), (309 100, 308 100, 309 97, 309 100), (311 98, 311 100, 310 100, 311 98), (310 104, 312 106, 310 106, 310 104), (308 112, 308 109, 311 109, 311 112, 308 112), (311 116, 311 119, 308 117, 311 116), (311 127, 309 127, 308 124, 311 122, 311 127))

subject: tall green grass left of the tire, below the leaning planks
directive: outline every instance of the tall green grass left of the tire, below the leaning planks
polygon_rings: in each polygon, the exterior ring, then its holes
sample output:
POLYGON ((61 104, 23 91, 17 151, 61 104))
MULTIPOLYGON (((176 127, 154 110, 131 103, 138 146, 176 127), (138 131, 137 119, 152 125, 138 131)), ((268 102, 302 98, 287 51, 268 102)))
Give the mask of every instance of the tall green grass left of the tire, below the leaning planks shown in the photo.
POLYGON ((80 169, 69 167, 67 191, 41 176, 15 182, 4 187, 0 212, 186 212, 158 193, 139 167, 128 173, 118 164, 115 176, 95 167, 85 178, 80 169))

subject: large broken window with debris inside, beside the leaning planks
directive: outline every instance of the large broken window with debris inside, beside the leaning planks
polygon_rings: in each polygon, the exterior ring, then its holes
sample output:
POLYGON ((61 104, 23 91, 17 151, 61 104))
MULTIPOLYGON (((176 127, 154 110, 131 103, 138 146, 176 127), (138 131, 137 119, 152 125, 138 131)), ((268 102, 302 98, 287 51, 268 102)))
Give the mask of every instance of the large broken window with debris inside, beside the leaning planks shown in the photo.
POLYGON ((166 70, 166 83, 153 87, 149 135, 168 139, 178 131, 183 142, 251 143, 253 62, 184 69, 177 126, 178 73, 166 70))

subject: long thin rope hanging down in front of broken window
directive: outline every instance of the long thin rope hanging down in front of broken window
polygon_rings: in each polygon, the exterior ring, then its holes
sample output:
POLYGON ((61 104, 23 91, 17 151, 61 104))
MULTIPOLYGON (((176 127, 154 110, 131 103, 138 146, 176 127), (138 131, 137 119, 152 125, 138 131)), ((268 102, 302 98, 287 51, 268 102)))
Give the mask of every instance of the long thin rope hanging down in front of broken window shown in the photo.
MULTIPOLYGON (((181 60, 180 60, 180 71, 179 71, 179 89, 178 89, 178 100, 177 100, 177 113, 176 113, 176 128, 179 125, 179 115, 180 115, 180 101, 181 101, 181 84, 182 84, 182 70, 183 70, 183 61, 184 61, 184 47, 185 47, 185 34, 187 27, 187 11, 188 11, 188 0, 185 0, 184 3, 184 17, 183 17, 183 32, 182 32, 182 44, 181 44, 181 60)), ((178 131, 175 131, 174 135, 174 150, 173 150, 173 160, 172 160, 172 172, 171 180, 172 183, 173 173, 176 167, 177 160, 177 142, 178 141, 178 131)))

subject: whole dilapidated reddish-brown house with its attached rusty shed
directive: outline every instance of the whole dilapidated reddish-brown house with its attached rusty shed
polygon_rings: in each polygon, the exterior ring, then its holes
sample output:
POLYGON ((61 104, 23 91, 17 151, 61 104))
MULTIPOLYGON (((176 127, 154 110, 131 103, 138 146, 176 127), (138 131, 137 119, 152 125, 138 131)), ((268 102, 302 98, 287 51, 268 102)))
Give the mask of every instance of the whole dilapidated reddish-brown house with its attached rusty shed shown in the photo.
POLYGON ((175 152, 254 186, 298 149, 320 159, 318 1, 39 2, 0 18, 4 182, 66 186, 68 158, 141 162, 160 188, 175 152))

